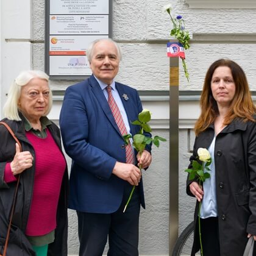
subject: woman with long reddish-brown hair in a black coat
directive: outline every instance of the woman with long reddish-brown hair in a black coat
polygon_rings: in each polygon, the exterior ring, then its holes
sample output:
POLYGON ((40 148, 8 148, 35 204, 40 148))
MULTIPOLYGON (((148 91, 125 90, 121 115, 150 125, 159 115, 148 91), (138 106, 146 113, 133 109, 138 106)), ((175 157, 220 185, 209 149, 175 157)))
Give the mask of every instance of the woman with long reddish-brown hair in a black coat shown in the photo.
MULTIPOLYGON (((200 249, 199 202, 204 256, 242 256, 249 236, 256 240, 256 123, 255 106, 243 69, 228 59, 207 71, 201 95, 201 115, 195 125, 197 149, 212 157, 210 179, 199 187, 187 180, 187 193, 197 199, 194 243, 200 249)), ((191 165, 189 166, 191 168, 191 165)))

